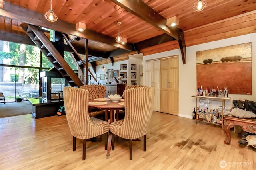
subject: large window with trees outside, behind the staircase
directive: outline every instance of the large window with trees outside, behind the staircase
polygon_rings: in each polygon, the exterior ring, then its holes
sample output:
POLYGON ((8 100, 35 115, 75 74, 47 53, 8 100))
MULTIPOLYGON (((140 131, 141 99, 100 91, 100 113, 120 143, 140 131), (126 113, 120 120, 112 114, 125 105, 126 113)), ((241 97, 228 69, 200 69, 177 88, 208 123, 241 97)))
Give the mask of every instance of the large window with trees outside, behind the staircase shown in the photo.
MULTIPOLYGON (((64 59, 73 70, 78 69, 69 52, 64 51, 64 59)), ((0 41, 0 92, 4 93, 6 102, 39 96, 39 72, 52 67, 52 63, 44 53, 40 53, 38 47, 0 41)), ((53 91, 62 91, 64 79, 53 82, 53 91)))

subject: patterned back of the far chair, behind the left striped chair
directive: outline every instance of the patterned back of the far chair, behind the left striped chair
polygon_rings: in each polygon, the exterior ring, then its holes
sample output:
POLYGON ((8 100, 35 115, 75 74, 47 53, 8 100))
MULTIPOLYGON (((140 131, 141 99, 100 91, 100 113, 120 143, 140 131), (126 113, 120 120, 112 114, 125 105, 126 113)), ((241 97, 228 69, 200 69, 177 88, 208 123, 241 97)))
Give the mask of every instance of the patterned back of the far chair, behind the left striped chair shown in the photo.
POLYGON ((96 99, 96 98, 105 98, 106 97, 106 86, 103 85, 83 85, 80 88, 89 91, 89 100, 96 99))

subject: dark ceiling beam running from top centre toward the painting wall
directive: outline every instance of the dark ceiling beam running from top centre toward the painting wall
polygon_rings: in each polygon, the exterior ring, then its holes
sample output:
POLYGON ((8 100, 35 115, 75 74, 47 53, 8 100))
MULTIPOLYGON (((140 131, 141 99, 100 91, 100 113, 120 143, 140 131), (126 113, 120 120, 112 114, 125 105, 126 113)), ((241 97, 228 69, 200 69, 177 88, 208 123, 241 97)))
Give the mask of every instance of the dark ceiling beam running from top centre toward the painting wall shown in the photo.
POLYGON ((138 18, 150 23, 154 27, 164 31, 167 35, 170 35, 174 39, 179 38, 179 29, 177 27, 170 28, 166 25, 166 18, 158 14, 155 10, 150 8, 141 0, 110 0, 124 8, 128 12, 134 14, 138 18))

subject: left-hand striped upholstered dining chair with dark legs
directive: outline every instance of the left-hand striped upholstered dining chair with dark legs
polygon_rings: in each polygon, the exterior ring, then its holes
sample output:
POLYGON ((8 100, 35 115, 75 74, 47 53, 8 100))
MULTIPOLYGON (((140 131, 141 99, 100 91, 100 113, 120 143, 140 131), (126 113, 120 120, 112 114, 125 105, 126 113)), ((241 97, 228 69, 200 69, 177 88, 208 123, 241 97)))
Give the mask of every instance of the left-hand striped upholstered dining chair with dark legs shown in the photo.
POLYGON ((63 88, 64 106, 68 126, 73 135, 73 151, 76 151, 76 138, 83 140, 83 160, 86 158, 86 139, 105 133, 107 150, 109 123, 95 117, 89 117, 89 92, 81 88, 63 88))

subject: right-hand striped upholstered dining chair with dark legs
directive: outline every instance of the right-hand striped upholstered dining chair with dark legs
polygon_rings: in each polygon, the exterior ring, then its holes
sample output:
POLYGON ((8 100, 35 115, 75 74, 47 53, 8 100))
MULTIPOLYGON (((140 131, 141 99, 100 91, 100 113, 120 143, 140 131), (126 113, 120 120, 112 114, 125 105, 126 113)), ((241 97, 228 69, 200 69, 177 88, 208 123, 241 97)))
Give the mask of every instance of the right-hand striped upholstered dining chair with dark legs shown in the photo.
POLYGON ((143 136, 143 150, 146 151, 146 134, 153 112, 155 89, 153 87, 138 87, 124 90, 125 117, 110 125, 112 132, 112 150, 114 150, 115 135, 129 139, 130 160, 132 160, 132 139, 143 136))

